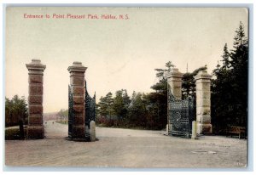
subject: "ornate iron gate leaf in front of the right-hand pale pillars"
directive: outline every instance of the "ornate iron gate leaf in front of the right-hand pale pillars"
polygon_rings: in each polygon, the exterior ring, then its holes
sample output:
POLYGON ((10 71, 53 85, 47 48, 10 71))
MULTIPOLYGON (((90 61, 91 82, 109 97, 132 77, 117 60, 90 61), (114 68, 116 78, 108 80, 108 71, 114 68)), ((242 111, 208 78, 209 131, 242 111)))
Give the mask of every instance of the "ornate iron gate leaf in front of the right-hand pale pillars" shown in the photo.
POLYGON ((189 138, 195 116, 195 99, 176 99, 168 93, 168 134, 189 138))

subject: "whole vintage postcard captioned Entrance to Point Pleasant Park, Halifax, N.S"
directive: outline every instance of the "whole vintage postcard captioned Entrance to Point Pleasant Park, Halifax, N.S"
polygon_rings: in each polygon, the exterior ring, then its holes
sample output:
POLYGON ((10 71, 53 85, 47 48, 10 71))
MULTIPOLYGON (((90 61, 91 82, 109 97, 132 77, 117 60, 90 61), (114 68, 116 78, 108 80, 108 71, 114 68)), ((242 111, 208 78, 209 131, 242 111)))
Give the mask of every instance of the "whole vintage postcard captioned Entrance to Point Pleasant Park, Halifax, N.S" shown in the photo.
POLYGON ((249 13, 8 6, 5 166, 246 168, 249 13))

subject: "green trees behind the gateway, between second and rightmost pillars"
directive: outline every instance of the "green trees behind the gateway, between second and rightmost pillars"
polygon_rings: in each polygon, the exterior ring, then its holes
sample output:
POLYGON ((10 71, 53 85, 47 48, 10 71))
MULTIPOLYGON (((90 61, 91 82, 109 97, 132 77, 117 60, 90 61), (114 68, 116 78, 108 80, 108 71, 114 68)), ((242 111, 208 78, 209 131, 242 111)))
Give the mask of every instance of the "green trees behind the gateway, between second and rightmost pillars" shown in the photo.
MULTIPOLYGON (((115 93, 108 93, 102 97, 97 106, 97 124, 105 127, 138 127, 145 129, 163 129, 167 123, 167 79, 166 74, 174 65, 171 61, 166 63, 165 69, 155 69, 156 82, 151 88, 154 93, 136 93, 131 97, 122 89, 115 93)), ((183 96, 195 93, 194 77, 198 71, 205 70, 201 67, 192 73, 183 76, 183 96), (190 92, 191 91, 191 92, 190 92)))

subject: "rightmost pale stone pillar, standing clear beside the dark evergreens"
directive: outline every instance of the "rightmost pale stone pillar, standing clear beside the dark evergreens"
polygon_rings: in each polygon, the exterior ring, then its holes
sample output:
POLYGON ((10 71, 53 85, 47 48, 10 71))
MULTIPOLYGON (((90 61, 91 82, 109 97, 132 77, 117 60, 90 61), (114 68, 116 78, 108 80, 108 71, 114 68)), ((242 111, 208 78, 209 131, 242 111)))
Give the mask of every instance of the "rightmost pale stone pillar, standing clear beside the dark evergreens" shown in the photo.
POLYGON ((196 85, 196 133, 212 133, 211 124, 211 78, 207 71, 195 76, 196 85))

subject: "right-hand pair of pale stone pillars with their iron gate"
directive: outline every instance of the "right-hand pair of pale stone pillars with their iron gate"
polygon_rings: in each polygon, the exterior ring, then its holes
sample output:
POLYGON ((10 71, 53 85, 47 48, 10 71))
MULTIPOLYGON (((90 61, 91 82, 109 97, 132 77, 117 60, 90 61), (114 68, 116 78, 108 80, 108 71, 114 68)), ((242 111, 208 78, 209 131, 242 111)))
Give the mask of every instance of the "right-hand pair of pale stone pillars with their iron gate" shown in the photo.
POLYGON ((212 133, 210 92, 212 76, 208 75, 207 71, 199 71, 195 76, 196 106, 194 98, 182 99, 183 74, 177 68, 173 68, 166 76, 168 84, 167 134, 189 138, 192 134, 193 120, 195 120, 196 134, 212 133))

